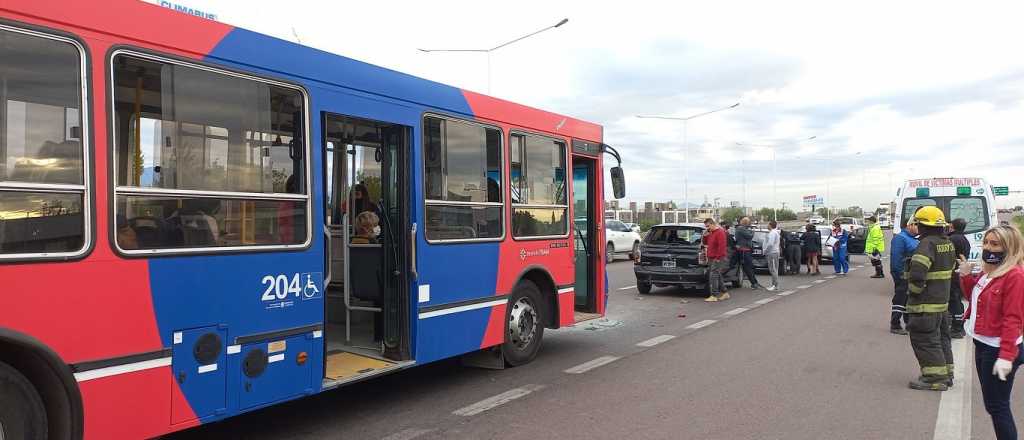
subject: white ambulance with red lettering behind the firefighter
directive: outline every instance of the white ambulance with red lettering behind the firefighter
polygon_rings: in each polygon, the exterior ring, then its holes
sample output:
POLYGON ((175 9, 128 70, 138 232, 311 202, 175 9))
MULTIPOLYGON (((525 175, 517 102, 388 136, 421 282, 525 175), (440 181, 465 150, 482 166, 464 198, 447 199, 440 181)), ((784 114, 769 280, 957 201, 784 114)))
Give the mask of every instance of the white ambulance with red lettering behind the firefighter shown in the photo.
POLYGON ((946 221, 967 220, 964 234, 971 241, 968 259, 977 261, 981 255, 981 239, 985 229, 998 224, 992 188, 977 177, 939 177, 911 179, 896 191, 896 212, 893 233, 906 226, 921 207, 939 207, 946 221))

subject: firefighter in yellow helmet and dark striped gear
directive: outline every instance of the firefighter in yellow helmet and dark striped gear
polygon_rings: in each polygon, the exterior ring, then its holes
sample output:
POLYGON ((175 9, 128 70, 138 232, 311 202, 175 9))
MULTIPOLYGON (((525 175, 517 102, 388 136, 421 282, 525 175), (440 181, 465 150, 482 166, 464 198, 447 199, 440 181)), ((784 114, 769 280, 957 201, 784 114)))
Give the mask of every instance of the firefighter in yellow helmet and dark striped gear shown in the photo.
POLYGON ((923 207, 912 220, 921 243, 904 271, 908 295, 910 346, 921 364, 921 377, 910 381, 914 390, 945 391, 953 385, 953 354, 949 343, 949 282, 956 253, 946 238, 946 218, 936 207, 923 207))

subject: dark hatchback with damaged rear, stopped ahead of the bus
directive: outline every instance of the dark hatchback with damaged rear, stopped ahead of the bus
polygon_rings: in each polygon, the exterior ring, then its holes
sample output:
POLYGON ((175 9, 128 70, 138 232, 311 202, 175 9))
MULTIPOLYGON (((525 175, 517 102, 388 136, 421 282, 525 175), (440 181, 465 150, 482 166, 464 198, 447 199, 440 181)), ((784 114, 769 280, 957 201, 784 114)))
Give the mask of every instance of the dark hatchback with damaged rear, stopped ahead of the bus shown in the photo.
MULTIPOLYGON (((652 227, 640 245, 640 255, 633 266, 637 291, 650 293, 652 287, 682 285, 710 293, 708 258, 700 239, 706 232, 701 223, 666 223, 652 227)), ((726 259, 731 257, 730 254, 726 259)), ((739 288, 739 269, 723 274, 723 280, 739 288)))

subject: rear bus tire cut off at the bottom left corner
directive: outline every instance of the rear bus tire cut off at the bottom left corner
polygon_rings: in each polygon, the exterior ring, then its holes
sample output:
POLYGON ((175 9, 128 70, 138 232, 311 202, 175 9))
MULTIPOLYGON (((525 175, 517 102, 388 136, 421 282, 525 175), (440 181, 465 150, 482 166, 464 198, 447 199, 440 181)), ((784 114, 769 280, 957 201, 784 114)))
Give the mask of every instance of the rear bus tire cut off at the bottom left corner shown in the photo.
POLYGON ((32 383, 0 362, 0 438, 45 440, 46 408, 32 383))

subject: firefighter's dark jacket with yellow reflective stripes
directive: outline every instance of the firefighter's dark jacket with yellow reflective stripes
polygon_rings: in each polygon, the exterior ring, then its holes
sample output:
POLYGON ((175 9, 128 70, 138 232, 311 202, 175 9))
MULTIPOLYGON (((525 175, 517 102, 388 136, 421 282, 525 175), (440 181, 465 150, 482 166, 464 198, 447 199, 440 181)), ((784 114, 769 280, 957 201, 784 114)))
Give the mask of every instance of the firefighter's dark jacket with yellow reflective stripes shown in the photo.
POLYGON ((943 235, 921 238, 907 265, 906 311, 937 313, 949 309, 949 282, 956 263, 953 244, 943 235))

